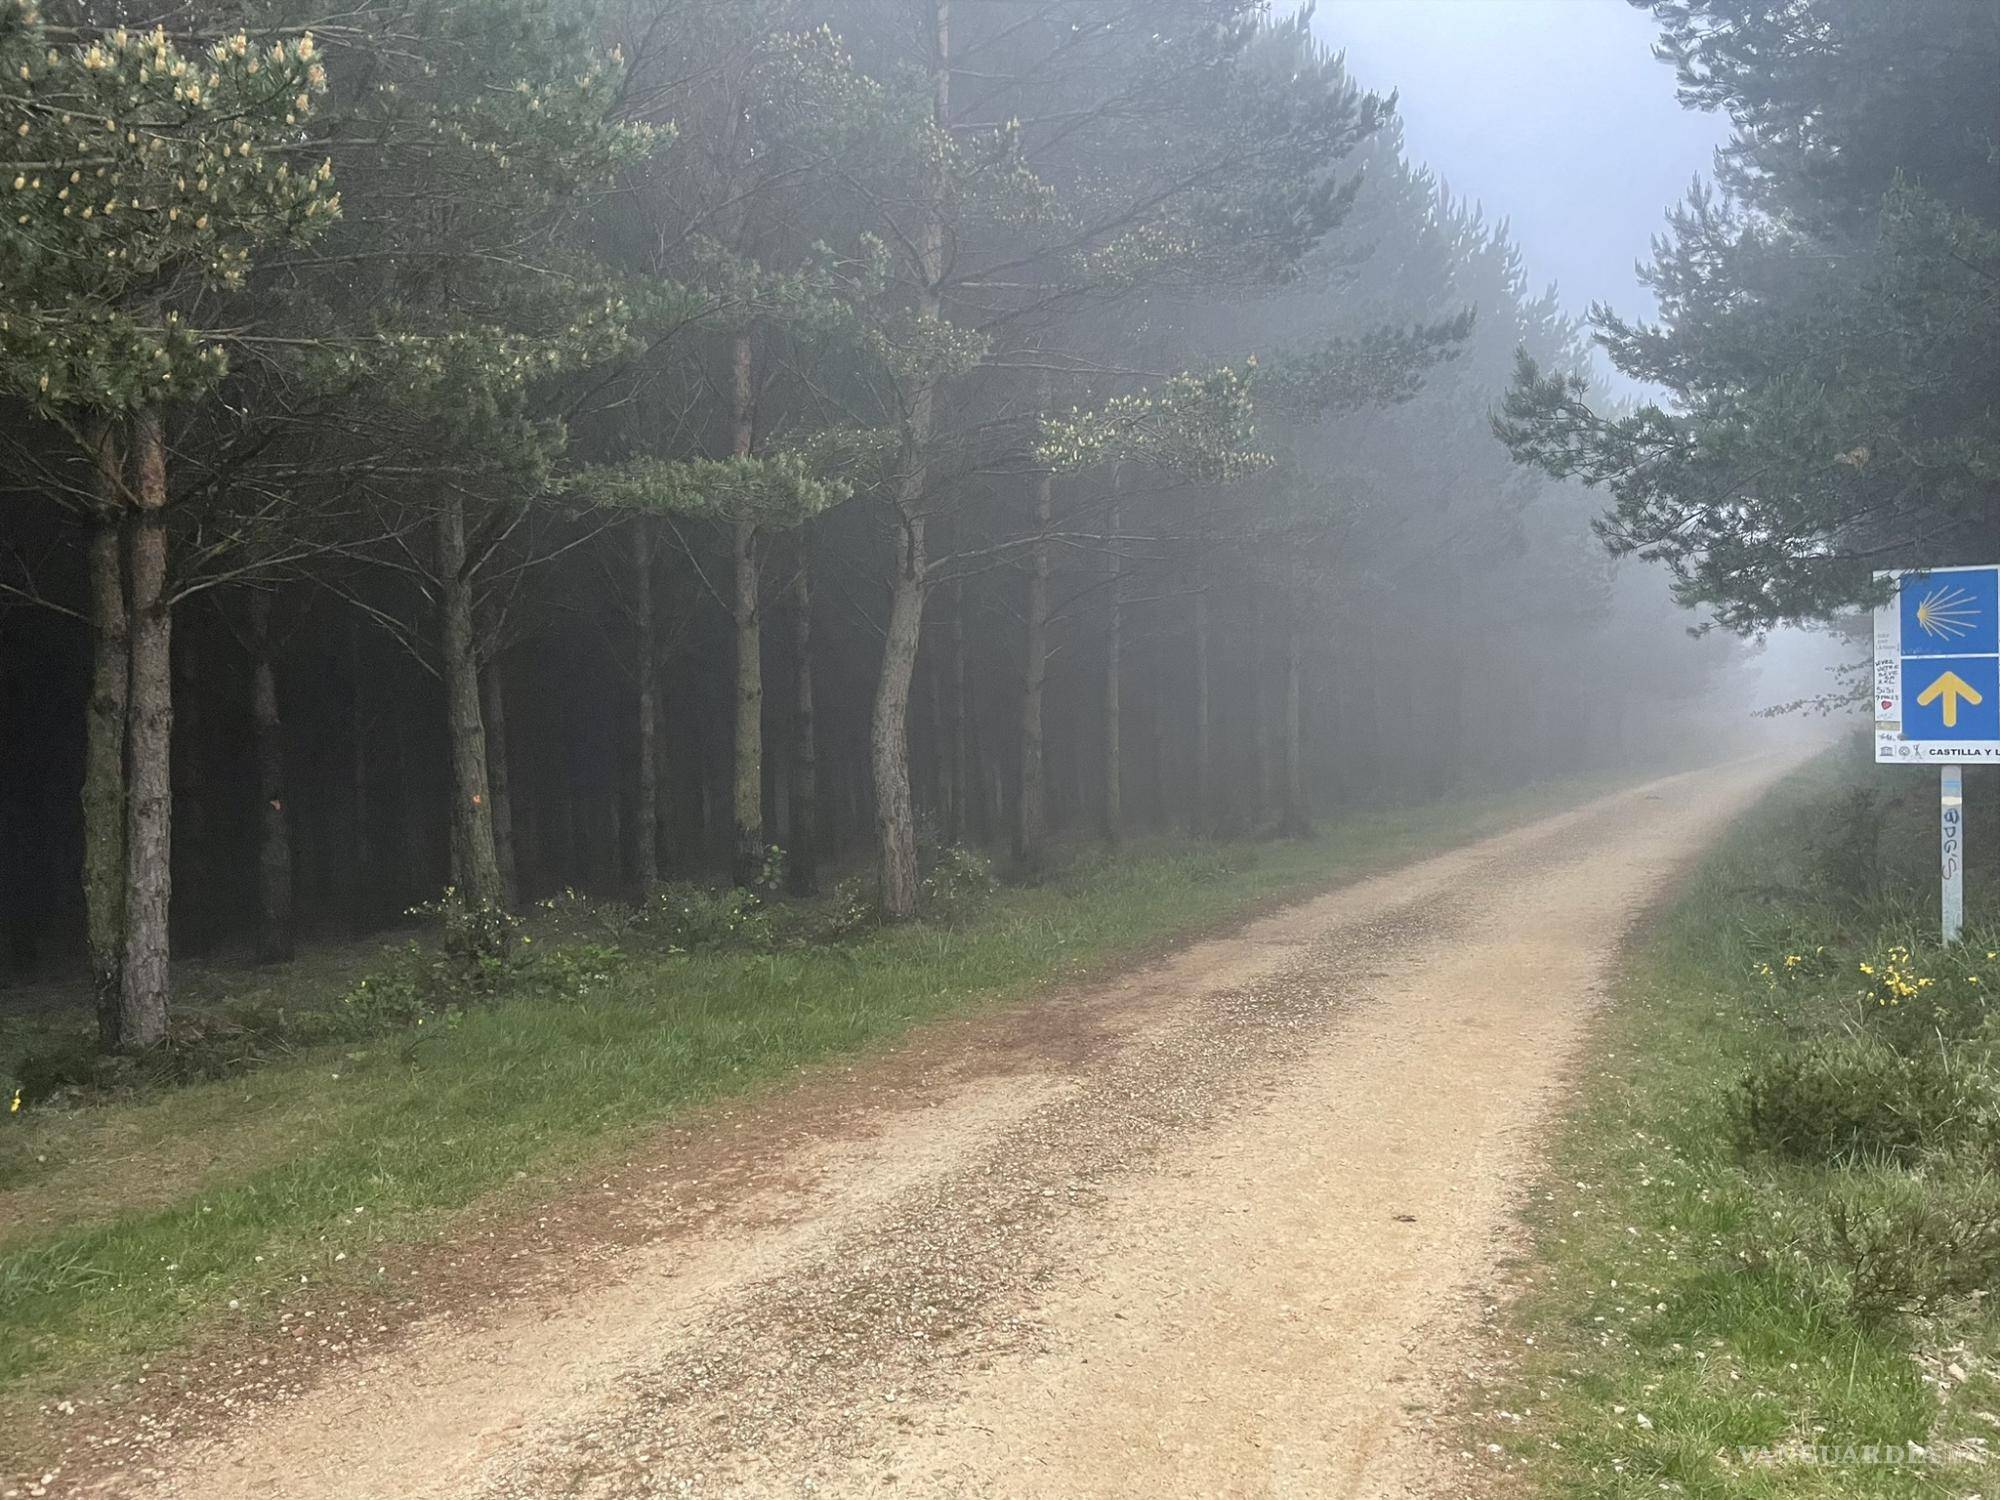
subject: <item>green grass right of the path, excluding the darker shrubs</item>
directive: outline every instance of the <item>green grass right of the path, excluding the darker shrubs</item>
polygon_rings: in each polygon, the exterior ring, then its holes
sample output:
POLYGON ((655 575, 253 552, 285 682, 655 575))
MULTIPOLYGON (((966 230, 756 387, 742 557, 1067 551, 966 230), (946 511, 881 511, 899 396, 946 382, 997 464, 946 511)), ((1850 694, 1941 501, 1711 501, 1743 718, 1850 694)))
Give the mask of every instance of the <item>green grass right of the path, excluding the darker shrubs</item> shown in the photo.
MULTIPOLYGON (((1864 754, 1846 748, 1782 784, 1630 958, 1532 1206, 1526 1292, 1504 1322, 1518 1374, 1480 1416, 1522 1492, 1994 1492, 1962 1462, 1854 1462, 1870 1444, 2000 1440, 2000 1418, 1982 1416, 2000 1412, 1994 1318, 1976 1302, 1862 1316, 1842 1270, 1810 1250, 1830 1194, 1936 1188, 1894 1168, 1772 1162, 1740 1144, 1730 1110, 1758 1056, 1862 1014, 1860 958, 1908 942, 1922 964, 1934 948, 1936 780, 1864 768, 1864 754), (1788 952, 1800 954, 1790 978, 1788 952), (1844 1462, 1744 1452, 1790 1444, 1844 1462)), ((1982 808, 1974 798, 1974 836, 1982 808)), ((1974 870, 1974 922, 2000 914, 1990 868, 1974 870)))

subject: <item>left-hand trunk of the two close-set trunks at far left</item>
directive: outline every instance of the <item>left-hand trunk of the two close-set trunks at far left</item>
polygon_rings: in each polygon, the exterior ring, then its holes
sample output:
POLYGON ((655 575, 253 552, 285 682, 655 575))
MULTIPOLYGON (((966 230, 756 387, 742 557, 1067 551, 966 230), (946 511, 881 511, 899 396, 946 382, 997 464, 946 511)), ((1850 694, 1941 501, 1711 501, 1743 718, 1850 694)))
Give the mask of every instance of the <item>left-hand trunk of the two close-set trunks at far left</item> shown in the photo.
POLYGON ((132 686, 124 592, 124 454, 110 424, 98 432, 98 510, 90 518, 90 700, 84 714, 84 938, 98 1044, 118 1050, 124 966, 126 694, 132 686))

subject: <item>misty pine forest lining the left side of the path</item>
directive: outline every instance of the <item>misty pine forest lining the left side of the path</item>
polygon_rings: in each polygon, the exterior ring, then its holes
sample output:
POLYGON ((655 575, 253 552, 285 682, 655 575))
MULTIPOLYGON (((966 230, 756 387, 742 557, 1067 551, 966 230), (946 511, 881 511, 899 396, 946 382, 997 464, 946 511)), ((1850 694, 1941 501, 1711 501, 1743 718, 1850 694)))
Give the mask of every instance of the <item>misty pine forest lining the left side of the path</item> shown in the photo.
POLYGON ((862 854, 902 920, 1722 660, 1492 440, 1578 330, 1262 4, 0 0, 0 916, 108 1048, 172 944, 862 854))

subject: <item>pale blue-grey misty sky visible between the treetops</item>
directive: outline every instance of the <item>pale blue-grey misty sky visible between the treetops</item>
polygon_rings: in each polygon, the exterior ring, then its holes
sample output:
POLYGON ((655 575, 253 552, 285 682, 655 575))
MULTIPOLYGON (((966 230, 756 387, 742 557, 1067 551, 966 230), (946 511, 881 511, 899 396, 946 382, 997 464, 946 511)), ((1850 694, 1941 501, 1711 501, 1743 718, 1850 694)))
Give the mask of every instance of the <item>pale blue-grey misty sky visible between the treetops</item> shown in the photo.
POLYGON ((1624 0, 1320 0, 1354 76, 1396 88, 1408 150, 1508 218, 1536 288, 1652 310, 1632 274, 1728 134, 1680 108, 1652 20, 1624 0))

